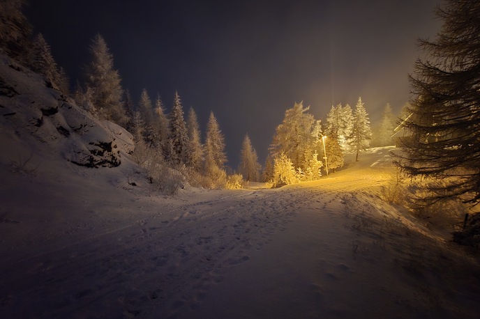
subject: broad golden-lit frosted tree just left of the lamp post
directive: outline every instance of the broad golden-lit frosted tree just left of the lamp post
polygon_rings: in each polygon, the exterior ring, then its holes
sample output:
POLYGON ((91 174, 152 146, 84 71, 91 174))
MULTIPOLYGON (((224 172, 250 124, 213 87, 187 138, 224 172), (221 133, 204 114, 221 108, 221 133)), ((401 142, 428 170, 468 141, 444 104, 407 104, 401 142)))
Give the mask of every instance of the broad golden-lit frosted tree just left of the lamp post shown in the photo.
POLYGON ((292 109, 285 111, 283 123, 276 127, 276 134, 269 148, 271 157, 285 153, 290 158, 295 169, 303 168, 306 149, 311 148, 313 137, 312 125, 315 122, 313 115, 306 113, 310 107, 303 108, 303 102, 295 103, 292 109))

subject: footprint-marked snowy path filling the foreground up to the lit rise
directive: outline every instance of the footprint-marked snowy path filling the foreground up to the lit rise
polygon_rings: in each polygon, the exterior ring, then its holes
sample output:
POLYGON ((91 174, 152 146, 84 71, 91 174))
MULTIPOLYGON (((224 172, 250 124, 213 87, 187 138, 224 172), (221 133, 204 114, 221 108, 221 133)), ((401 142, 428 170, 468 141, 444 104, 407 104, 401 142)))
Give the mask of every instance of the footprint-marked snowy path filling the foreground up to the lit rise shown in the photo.
POLYGON ((282 189, 122 193, 117 217, 6 238, 0 318, 479 318, 478 265, 377 196, 375 156, 282 189))

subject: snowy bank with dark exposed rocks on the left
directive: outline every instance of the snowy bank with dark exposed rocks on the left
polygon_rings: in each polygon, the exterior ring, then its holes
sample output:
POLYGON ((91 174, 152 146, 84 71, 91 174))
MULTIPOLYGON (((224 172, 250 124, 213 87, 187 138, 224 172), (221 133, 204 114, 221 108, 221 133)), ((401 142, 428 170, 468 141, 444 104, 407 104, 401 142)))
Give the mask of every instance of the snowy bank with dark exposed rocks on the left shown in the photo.
MULTIPOLYGON (((96 168, 119 166, 134 148, 132 135, 122 127, 100 122, 54 90, 47 78, 0 55, 0 145, 12 142, 96 168)), ((3 155, 15 157, 8 150, 3 155)))

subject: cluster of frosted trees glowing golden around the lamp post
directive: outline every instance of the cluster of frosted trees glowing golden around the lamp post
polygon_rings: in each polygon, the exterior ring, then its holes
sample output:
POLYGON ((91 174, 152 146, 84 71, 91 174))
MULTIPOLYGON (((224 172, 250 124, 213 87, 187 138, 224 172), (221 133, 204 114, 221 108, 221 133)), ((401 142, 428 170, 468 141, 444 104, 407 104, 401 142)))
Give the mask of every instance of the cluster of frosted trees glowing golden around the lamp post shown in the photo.
POLYGON ((369 147, 372 132, 361 98, 354 112, 348 104, 331 107, 325 125, 308 109, 302 102, 295 103, 276 127, 263 172, 263 179, 273 186, 317 180, 322 176, 322 157, 325 170, 334 172, 343 166, 345 152, 355 152, 358 161, 369 147))

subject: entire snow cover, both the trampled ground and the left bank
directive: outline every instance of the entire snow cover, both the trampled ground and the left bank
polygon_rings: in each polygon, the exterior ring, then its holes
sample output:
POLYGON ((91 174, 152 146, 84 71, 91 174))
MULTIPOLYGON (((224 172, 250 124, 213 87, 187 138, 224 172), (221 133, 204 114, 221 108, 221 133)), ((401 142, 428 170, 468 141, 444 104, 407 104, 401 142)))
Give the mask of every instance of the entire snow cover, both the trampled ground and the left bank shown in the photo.
POLYGON ((280 189, 164 196, 121 127, 70 103, 39 133, 21 101, 59 97, 10 69, 23 93, 0 96, 0 318, 479 318, 478 257, 382 200, 391 148, 280 189), (92 139, 121 164, 68 162, 92 139))

